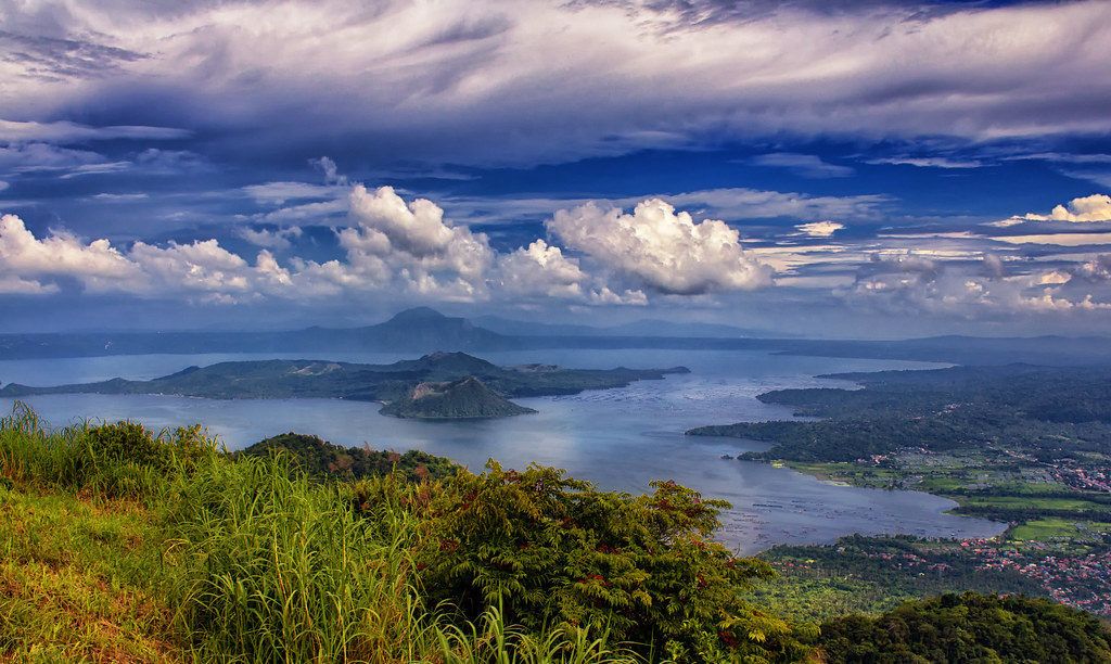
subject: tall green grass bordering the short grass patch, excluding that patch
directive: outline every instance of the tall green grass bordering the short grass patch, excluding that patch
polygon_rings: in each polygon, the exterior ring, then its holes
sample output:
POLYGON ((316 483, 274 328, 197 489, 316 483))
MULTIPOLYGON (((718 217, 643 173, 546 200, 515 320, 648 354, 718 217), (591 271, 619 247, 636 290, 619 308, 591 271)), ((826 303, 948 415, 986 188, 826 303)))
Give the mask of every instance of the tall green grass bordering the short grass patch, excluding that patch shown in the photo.
MULTIPOLYGON (((134 434, 131 425, 51 429, 17 405, 0 420, 0 477, 17 491, 141 500, 157 521, 161 564, 127 581, 166 597, 157 636, 196 661, 635 661, 605 634, 534 634, 496 608, 467 622, 427 606, 409 553, 421 529, 393 502, 404 493, 396 477, 370 481, 381 504, 368 517, 350 485, 313 482, 281 456, 233 460, 198 429, 152 442, 134 434)), ((0 660, 34 647, 0 643, 0 660)))

